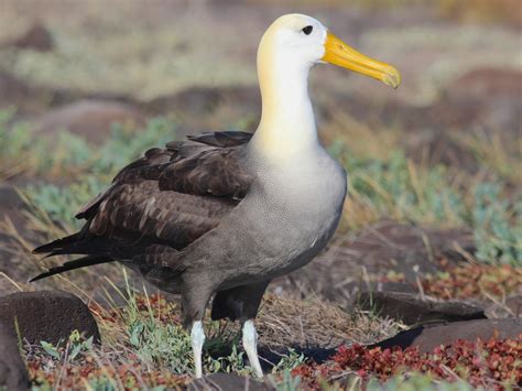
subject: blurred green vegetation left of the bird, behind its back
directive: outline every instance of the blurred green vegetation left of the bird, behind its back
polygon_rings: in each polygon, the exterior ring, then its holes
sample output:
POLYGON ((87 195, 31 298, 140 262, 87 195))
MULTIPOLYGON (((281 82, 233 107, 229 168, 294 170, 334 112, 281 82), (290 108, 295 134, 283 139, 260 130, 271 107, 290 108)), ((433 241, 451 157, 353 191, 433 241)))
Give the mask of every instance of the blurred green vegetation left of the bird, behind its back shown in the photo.
POLYGON ((148 149, 175 138, 174 124, 156 118, 138 132, 115 124, 107 142, 98 146, 66 131, 54 137, 35 135, 28 123, 11 126, 12 116, 12 111, 0 111, 0 166, 6 170, 0 175, 3 176, 23 173, 70 183, 78 178, 86 181, 90 174, 97 181, 110 181, 118 170, 148 149))

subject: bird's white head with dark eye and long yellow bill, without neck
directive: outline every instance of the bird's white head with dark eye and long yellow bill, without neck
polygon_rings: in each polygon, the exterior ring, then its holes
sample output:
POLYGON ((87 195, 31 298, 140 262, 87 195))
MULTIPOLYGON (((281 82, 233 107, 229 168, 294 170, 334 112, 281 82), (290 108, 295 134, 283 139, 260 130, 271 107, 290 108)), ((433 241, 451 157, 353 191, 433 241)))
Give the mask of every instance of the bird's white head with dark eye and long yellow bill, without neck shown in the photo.
POLYGON ((260 69, 271 63, 279 67, 305 68, 330 63, 376 78, 393 88, 401 75, 395 67, 370 58, 329 32, 314 18, 292 13, 275 20, 264 33, 258 52, 260 69), (274 64, 275 63, 275 64, 274 64))

